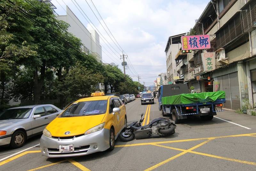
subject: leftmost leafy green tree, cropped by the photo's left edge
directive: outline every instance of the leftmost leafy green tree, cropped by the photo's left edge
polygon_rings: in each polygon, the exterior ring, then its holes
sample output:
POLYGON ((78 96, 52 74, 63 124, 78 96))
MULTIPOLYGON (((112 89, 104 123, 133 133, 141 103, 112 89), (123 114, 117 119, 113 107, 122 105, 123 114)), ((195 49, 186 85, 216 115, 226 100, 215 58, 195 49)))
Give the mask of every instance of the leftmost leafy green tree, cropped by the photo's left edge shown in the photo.
MULTIPOLYGON (((20 1, 17 1, 20 4, 20 1)), ((28 34, 30 22, 18 14, 18 7, 8 1, 0 2, 0 81, 1 105, 8 102, 9 92, 6 83, 11 79, 12 68, 21 59, 36 55, 36 46, 29 45, 31 37, 28 34)), ((10 87, 10 86, 8 86, 10 87)))

